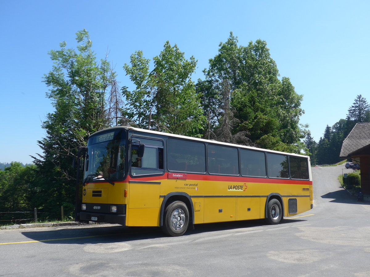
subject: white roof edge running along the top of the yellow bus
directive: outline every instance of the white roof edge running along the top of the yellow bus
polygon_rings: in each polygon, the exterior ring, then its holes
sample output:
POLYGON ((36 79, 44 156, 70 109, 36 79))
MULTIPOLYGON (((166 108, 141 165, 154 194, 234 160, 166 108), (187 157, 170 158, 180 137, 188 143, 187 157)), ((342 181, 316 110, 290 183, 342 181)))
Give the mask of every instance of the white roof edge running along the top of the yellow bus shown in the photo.
POLYGON ((182 136, 182 135, 177 135, 177 134, 152 131, 152 130, 147 130, 147 129, 139 129, 139 128, 135 128, 135 127, 132 127, 132 126, 129 126, 129 125, 109 127, 109 128, 106 128, 106 129, 103 129, 103 130, 100 130, 100 131, 96 131, 95 133, 91 134, 90 137, 94 136, 95 134, 102 133, 102 132, 105 132, 105 131, 108 131, 108 130, 117 130, 117 129, 133 130, 133 131, 142 132, 142 133, 156 134, 156 135, 159 135, 159 136, 183 138, 183 139, 186 139, 186 140, 201 141, 201 142, 204 142, 204 143, 213 143, 213 144, 219 144, 219 145, 223 145, 223 146, 240 147, 240 148, 250 149, 250 150, 268 151, 270 153, 289 154, 289 155, 294 155, 294 156, 299 156, 299 157, 310 158, 307 155, 300 155, 300 154, 295 154, 295 153, 286 153, 286 152, 281 152, 281 151, 258 148, 258 147, 254 147, 254 146, 244 146, 244 145, 240 145, 240 144, 225 143, 225 142, 216 141, 216 140, 207 140, 207 139, 204 139, 204 138, 188 137, 188 136, 182 136))

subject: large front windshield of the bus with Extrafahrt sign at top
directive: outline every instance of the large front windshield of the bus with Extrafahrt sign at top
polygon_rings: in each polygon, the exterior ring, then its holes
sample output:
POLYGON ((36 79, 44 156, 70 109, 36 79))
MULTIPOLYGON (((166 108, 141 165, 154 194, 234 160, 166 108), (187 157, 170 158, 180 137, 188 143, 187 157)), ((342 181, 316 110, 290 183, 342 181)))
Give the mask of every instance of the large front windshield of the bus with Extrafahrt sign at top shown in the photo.
POLYGON ((89 138, 84 179, 90 181, 125 178, 125 130, 107 131, 89 138))

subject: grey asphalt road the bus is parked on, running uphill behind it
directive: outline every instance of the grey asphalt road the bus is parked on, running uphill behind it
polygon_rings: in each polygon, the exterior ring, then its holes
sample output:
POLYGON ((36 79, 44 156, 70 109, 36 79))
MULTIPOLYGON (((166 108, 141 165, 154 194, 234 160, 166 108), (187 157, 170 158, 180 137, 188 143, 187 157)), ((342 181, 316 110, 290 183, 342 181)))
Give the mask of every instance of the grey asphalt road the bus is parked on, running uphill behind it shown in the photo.
POLYGON ((370 276, 370 203, 340 187, 342 169, 312 168, 314 208, 280 225, 0 230, 0 276, 370 276))

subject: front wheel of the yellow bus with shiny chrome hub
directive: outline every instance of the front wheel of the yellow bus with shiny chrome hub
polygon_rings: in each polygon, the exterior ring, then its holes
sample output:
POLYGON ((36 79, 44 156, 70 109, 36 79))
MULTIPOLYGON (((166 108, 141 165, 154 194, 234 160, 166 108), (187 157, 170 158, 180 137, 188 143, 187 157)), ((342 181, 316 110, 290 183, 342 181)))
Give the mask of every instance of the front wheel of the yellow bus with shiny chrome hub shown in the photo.
POLYGON ((188 229, 189 219, 189 210, 185 203, 174 201, 164 211, 162 230, 172 237, 182 236, 188 229))

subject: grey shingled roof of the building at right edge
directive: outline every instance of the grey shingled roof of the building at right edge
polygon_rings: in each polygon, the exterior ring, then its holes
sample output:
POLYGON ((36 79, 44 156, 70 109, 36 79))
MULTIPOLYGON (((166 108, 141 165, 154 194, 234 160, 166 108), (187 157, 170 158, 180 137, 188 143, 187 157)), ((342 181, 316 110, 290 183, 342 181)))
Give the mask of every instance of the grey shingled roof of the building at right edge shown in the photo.
POLYGON ((370 122, 357 123, 346 139, 343 141, 340 150, 340 158, 349 158, 350 154, 361 148, 367 148, 370 145, 370 122))

